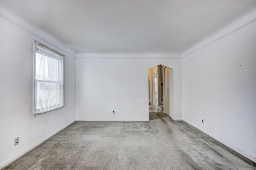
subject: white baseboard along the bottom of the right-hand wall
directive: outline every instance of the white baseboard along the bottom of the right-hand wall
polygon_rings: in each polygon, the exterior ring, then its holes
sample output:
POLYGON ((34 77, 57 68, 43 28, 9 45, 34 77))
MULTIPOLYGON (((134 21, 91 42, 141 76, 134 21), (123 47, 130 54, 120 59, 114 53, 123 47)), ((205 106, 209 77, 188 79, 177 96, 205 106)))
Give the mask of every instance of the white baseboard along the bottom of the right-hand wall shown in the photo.
POLYGON ((246 152, 238 149, 237 147, 235 147, 234 145, 231 145, 230 143, 224 141, 223 139, 220 139, 219 137, 216 137, 214 135, 212 135, 211 133, 208 133, 207 131, 204 131, 203 129, 201 129, 200 127, 194 125, 193 123, 191 123, 190 121, 187 121, 186 119, 183 119, 183 121, 185 121, 186 123, 194 126, 196 129, 206 133, 207 135, 209 135, 210 137, 216 139, 217 141, 219 141, 220 143, 223 143, 224 145, 226 145, 227 147, 229 147, 230 149, 233 149, 234 151, 240 153, 241 155, 245 156, 246 158, 252 160, 253 162, 256 162, 256 158, 254 158, 253 156, 251 156, 250 154, 247 154, 246 152))

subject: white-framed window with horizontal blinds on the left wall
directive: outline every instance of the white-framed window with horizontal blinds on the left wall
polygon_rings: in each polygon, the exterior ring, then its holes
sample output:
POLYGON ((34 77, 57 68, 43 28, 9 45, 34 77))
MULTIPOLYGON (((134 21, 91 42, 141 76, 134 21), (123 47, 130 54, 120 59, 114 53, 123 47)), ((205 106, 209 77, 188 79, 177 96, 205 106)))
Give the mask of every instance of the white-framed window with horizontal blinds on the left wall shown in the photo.
POLYGON ((64 106, 64 55, 34 41, 34 114, 64 106))

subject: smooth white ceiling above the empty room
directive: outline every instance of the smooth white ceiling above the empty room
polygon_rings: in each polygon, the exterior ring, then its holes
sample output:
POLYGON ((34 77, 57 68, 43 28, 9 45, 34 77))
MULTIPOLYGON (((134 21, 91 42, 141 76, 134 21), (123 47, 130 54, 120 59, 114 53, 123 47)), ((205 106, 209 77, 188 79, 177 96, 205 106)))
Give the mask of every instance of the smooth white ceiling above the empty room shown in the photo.
POLYGON ((256 0, 0 0, 77 53, 181 53, 256 0))

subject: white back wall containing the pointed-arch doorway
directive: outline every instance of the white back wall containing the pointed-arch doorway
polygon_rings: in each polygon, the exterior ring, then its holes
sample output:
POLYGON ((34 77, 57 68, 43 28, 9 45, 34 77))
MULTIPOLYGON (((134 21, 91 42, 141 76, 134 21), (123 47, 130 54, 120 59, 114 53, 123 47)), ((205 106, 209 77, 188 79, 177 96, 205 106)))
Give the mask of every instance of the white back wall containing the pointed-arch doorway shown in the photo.
POLYGON ((159 64, 174 69, 174 112, 176 118, 182 118, 182 59, 178 57, 180 55, 78 54, 76 119, 147 121, 148 69, 159 64))

